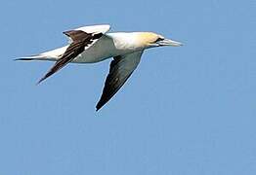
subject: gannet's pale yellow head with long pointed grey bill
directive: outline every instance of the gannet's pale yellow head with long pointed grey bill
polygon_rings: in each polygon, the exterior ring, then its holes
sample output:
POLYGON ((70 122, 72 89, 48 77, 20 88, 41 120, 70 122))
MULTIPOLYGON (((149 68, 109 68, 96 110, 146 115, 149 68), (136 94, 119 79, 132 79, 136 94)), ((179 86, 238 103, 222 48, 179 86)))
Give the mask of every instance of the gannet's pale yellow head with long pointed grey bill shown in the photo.
POLYGON ((138 42, 145 48, 173 46, 179 47, 183 44, 177 41, 166 39, 163 36, 153 32, 138 32, 138 42))

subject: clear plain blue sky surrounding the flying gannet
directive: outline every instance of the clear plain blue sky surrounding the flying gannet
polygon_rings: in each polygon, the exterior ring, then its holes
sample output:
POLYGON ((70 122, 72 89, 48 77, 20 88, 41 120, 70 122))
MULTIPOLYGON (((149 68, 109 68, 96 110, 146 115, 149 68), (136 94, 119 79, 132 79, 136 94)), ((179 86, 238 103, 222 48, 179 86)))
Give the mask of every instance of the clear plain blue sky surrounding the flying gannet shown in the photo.
POLYGON ((256 1, 12 1, 0 6, 0 175, 255 175, 256 1), (185 44, 143 54, 95 112, 109 60, 15 62, 111 24, 185 44))

